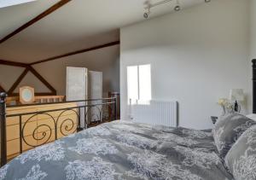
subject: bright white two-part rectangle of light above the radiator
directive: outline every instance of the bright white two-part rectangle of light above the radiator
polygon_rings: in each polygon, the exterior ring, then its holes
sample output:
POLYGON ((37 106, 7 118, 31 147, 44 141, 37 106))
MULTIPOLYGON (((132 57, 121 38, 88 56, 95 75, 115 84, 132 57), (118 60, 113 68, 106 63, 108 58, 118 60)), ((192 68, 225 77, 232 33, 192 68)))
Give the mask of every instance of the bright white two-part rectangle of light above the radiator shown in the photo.
POLYGON ((128 103, 151 100, 151 66, 127 67, 128 103))

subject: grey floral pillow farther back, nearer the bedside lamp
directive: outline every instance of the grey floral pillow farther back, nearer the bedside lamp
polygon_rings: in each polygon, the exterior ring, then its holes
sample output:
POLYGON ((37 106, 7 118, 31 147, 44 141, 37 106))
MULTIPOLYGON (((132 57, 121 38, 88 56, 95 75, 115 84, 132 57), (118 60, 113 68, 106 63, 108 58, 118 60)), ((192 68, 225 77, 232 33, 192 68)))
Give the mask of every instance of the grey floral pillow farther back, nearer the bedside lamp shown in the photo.
POLYGON ((238 137, 252 125, 256 125, 256 121, 239 113, 229 114, 217 121, 212 135, 221 158, 225 157, 238 137))

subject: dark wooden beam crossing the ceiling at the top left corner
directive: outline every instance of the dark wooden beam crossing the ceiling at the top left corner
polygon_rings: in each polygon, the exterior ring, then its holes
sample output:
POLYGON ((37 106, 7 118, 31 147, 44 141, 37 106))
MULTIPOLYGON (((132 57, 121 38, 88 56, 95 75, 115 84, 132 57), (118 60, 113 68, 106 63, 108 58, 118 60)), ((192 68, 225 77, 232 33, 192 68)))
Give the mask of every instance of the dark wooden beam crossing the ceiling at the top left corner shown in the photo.
POLYGON ((40 15, 38 15, 37 17, 33 18, 32 20, 29 20, 28 22, 26 22, 26 24, 20 26, 18 29, 16 29, 14 32, 11 32, 9 35, 7 35, 6 37, 2 38, 0 40, 0 44, 3 44, 3 42, 5 42, 6 40, 8 40, 9 38, 12 38, 13 36, 15 36, 15 34, 23 31, 24 29, 26 29, 26 27, 28 26, 32 26, 32 24, 36 23, 38 20, 43 19, 45 16, 51 14, 52 12, 54 12, 56 9, 61 8, 61 6, 65 5, 66 3, 70 2, 71 0, 61 0, 58 3, 55 3, 53 6, 51 6, 49 9, 45 10, 43 13, 41 13, 40 15))

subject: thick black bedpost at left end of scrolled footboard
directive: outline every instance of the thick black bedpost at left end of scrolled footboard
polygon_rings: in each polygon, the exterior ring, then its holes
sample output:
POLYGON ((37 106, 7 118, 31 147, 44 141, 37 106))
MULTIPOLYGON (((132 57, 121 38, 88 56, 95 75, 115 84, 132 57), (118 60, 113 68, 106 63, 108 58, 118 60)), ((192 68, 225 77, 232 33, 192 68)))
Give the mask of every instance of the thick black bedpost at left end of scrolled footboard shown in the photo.
POLYGON ((6 146, 6 100, 7 94, 0 94, 0 132, 1 132, 1 166, 7 162, 7 146, 6 146))

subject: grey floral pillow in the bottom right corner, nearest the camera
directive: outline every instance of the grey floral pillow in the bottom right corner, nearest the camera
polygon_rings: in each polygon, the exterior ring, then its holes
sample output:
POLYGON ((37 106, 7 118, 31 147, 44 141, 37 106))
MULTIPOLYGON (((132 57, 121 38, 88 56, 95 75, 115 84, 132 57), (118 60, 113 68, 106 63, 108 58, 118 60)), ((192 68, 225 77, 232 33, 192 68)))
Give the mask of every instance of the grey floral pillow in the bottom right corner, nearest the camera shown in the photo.
POLYGON ((225 157, 225 165, 235 179, 256 179, 256 125, 247 129, 225 157))

